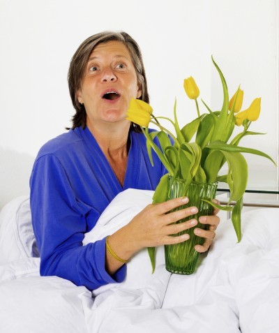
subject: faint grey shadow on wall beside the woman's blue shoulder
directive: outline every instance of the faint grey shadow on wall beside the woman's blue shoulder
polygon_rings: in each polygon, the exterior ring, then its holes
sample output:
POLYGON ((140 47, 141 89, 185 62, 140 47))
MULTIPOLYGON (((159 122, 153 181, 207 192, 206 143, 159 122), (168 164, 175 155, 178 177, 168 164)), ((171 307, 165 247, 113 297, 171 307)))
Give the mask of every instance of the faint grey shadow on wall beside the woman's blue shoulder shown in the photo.
POLYGON ((29 195, 29 177, 35 157, 0 147, 0 209, 20 195, 29 195))

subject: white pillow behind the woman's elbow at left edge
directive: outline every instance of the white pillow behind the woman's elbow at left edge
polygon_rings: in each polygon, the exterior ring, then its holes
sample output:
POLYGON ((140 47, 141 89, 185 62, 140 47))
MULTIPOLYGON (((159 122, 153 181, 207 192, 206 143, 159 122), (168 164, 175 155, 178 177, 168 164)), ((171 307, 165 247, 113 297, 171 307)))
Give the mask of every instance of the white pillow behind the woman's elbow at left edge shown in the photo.
POLYGON ((39 256, 31 223, 29 196, 15 198, 1 210, 0 253, 0 265, 39 256))

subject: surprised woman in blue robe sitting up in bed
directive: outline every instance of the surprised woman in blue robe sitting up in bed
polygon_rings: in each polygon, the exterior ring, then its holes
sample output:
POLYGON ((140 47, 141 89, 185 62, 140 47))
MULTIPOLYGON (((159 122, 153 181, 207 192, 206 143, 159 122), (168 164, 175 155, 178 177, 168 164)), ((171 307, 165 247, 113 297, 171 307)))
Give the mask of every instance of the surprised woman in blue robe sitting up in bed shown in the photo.
MULTIPOLYGON (((40 274, 56 275, 96 289, 121 282, 133 254, 147 246, 185 242, 171 237, 197 225, 194 219, 169 223, 197 212, 196 207, 166 214, 188 198, 149 205, 108 239, 82 246, 105 207, 127 188, 154 190, 166 170, 154 155, 149 162, 144 135, 126 119, 131 98, 149 103, 142 55, 128 34, 103 32, 86 39, 68 73, 76 113, 73 128, 47 142, 33 166, 31 214, 40 249, 40 274)), ((209 249, 218 216, 204 216, 210 230, 195 229, 209 249)))

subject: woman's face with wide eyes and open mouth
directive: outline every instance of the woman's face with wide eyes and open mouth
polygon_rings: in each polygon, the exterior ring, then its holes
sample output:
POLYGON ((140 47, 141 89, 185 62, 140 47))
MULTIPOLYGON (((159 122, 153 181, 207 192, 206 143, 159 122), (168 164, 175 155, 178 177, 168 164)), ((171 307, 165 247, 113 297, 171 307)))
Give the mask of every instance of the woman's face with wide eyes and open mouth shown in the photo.
POLYGON ((126 121, 131 98, 142 94, 127 47, 116 40, 101 43, 89 57, 77 98, 84 103, 86 124, 126 121))

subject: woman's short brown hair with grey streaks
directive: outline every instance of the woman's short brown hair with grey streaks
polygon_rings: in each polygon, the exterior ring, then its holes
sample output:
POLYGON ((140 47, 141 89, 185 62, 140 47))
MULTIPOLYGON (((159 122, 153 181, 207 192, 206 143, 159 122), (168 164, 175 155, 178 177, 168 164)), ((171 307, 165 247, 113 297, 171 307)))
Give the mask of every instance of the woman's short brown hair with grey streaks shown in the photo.
MULTIPOLYGON (((89 38, 86 38, 80 47, 77 48, 73 58, 70 61, 70 68, 68 71, 68 86, 70 90, 70 98, 72 99, 72 103, 75 108, 72 128, 76 128, 77 126, 82 126, 85 128, 86 126, 85 108, 84 105, 80 104, 80 102, 77 100, 77 91, 82 87, 84 71, 90 54, 97 45, 100 43, 106 43, 110 40, 117 40, 126 45, 135 67, 137 82, 140 86, 140 89, 142 90, 142 96, 140 96, 140 99, 146 103, 149 103, 146 75, 142 61, 142 52, 140 51, 139 45, 137 45, 137 42, 124 31, 103 31, 99 34, 95 34, 89 38)), ((133 123, 131 124, 131 128, 135 129, 135 131, 140 130, 140 127, 133 123)))

